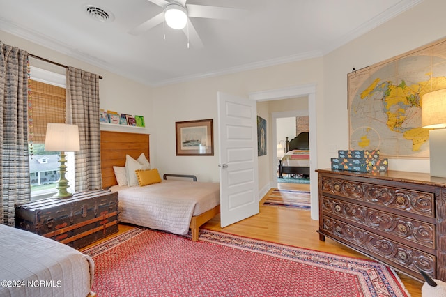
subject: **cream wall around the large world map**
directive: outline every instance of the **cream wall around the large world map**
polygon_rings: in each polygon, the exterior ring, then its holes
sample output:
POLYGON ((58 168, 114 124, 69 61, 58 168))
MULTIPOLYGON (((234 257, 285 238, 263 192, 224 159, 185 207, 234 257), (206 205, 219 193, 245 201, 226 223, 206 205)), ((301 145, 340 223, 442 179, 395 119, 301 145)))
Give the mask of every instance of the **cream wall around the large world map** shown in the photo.
MULTIPOLYGON (((330 167, 336 149, 348 148, 347 74, 446 36, 446 1, 425 0, 351 43, 324 56, 323 124, 318 130, 318 165, 330 167)), ((390 159, 389 169, 429 172, 429 160, 390 159)))

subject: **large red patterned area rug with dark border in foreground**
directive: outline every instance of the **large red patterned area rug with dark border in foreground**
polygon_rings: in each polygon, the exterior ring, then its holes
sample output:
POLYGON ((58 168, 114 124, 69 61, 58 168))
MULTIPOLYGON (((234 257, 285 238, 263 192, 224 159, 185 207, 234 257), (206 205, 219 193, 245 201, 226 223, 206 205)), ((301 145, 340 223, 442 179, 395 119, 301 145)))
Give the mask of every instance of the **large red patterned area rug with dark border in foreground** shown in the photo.
POLYGON ((84 250, 102 296, 409 296, 375 261, 200 231, 142 227, 84 250))

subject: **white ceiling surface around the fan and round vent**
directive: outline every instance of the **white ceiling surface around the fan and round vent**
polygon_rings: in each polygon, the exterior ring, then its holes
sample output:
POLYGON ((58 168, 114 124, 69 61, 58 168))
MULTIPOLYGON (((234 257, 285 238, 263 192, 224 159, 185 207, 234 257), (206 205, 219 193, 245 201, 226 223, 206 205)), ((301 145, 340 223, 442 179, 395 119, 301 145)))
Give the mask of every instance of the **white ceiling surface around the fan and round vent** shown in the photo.
POLYGON ((163 24, 129 33, 162 13, 149 0, 0 0, 0 30, 157 86, 322 56, 421 1, 187 0, 243 9, 232 20, 190 18, 203 43, 190 48, 185 33, 168 26, 164 40, 163 24), (113 22, 94 20, 87 4, 113 22))

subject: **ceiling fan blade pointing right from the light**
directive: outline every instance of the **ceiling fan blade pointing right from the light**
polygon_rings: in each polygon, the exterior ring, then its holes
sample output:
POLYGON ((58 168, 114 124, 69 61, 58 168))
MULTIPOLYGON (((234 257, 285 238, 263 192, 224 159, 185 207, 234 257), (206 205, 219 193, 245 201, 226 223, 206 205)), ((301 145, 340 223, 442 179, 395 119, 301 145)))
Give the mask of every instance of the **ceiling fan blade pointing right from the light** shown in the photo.
POLYGON ((240 8, 205 6, 197 4, 186 4, 187 15, 190 17, 206 17, 208 19, 234 20, 245 15, 240 8))

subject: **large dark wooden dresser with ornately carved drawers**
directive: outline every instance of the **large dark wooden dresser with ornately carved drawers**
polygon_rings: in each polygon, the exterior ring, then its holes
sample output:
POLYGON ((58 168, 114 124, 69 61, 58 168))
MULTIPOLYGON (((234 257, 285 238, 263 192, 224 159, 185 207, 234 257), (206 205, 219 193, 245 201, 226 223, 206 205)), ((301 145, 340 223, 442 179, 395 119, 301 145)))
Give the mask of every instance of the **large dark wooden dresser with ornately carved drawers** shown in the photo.
POLYGON ((319 238, 424 281, 446 281, 446 178, 318 169, 319 238))

